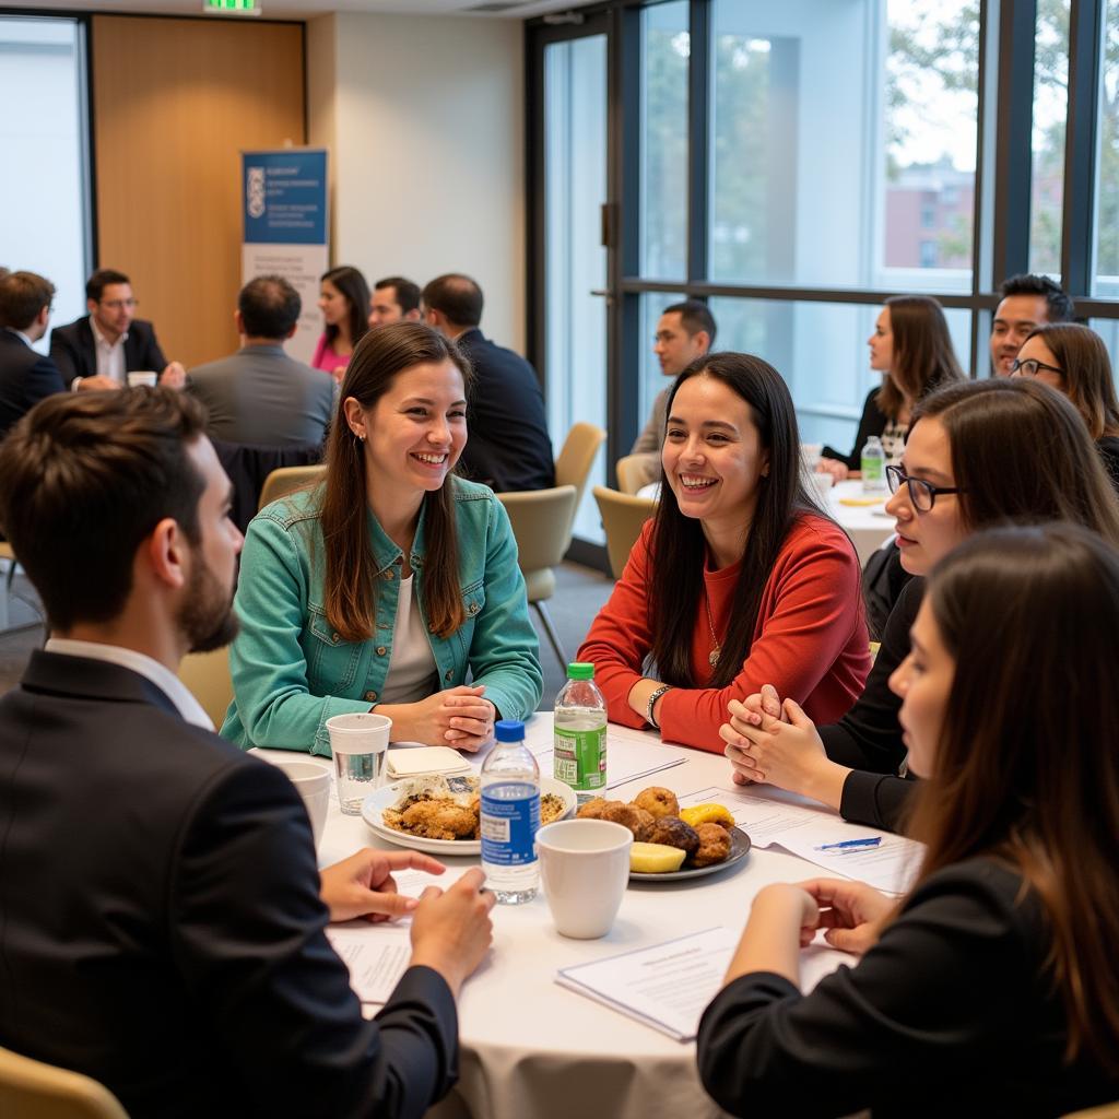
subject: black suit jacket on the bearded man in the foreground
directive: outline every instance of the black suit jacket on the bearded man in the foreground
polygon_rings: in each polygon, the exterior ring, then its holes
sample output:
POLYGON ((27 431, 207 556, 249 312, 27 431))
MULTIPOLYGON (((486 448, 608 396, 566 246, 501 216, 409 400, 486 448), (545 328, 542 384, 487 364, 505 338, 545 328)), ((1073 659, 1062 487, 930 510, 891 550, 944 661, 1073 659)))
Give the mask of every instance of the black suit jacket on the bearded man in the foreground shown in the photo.
POLYGON ((0 1045, 144 1116, 422 1116, 455 1075, 450 990, 366 1022, 283 773, 135 673, 37 651, 0 698, 0 1045))

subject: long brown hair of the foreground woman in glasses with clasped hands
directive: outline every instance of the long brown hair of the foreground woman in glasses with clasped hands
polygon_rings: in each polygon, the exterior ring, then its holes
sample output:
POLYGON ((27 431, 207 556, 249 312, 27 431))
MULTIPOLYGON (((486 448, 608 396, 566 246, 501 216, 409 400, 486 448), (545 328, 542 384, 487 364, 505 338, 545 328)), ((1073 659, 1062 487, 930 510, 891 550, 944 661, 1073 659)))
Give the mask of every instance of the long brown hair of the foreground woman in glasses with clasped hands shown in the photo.
POLYGON ((1068 520, 1119 546, 1119 502, 1069 399, 1037 380, 993 377, 949 385, 913 412, 935 417, 952 452, 960 516, 970 529, 1068 520))

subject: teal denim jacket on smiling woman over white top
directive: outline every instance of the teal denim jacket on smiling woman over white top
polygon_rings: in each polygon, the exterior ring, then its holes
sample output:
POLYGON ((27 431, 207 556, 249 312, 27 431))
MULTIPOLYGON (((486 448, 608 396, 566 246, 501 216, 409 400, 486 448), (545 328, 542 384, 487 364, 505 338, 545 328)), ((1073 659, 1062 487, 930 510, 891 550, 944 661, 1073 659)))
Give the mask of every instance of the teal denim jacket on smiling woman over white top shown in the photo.
MULTIPOLYGON (((539 645, 509 517, 486 486, 452 478, 459 577, 466 622, 427 637, 444 688, 486 685, 500 718, 527 718, 540 700, 539 645)), ((319 490, 275 501, 253 518, 241 554, 234 603, 241 633, 229 650, 233 703, 222 735, 247 750, 275 746, 330 755, 327 720, 368 711, 388 675, 403 552, 370 513, 377 568, 376 637, 345 641, 323 609, 325 561, 319 490)), ((423 614, 423 513, 408 563, 423 614)))

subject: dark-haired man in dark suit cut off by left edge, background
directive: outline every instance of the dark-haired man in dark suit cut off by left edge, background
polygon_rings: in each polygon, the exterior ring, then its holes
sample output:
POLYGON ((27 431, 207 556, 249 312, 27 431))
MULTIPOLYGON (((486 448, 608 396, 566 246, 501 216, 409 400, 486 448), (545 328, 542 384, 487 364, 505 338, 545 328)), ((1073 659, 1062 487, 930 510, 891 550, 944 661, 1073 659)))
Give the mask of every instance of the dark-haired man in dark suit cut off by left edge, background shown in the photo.
POLYGON ((66 389, 55 363, 31 349, 54 298, 55 285, 34 272, 0 276, 0 439, 45 396, 66 389))

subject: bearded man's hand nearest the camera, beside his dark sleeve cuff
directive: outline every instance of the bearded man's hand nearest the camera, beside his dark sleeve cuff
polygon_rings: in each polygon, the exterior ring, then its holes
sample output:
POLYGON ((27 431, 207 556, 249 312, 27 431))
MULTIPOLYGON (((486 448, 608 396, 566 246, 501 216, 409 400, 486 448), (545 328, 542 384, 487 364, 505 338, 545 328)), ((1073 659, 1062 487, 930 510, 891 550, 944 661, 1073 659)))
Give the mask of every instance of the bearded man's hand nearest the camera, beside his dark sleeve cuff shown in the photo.
POLYGON ((455 997, 493 939, 489 913, 496 899, 485 884, 476 868, 445 891, 429 886, 412 914, 411 965, 438 971, 455 997))

